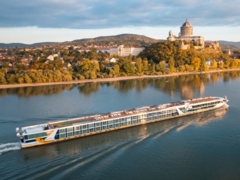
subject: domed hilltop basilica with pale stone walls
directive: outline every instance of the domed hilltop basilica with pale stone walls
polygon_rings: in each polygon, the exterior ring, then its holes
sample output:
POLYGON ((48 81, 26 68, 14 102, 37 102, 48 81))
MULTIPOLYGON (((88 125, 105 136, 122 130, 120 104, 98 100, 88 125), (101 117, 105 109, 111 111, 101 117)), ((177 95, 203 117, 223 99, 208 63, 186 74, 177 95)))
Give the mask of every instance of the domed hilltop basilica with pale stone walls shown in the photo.
POLYGON ((169 36, 167 38, 168 41, 193 41, 199 44, 199 47, 204 47, 204 37, 203 36, 193 36, 193 27, 192 25, 186 20, 185 23, 180 28, 180 33, 178 36, 174 36, 172 31, 169 32, 169 36))

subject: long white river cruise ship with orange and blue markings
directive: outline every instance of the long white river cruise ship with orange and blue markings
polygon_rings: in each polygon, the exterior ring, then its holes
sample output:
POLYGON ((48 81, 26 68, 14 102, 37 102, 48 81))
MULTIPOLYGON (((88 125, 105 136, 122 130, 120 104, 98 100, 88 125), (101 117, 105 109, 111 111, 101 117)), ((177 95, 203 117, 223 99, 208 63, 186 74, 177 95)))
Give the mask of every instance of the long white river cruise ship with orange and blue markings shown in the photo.
POLYGON ((20 138, 22 148, 29 148, 187 116, 221 107, 228 108, 227 102, 227 97, 204 97, 48 122, 16 128, 16 132, 20 138))

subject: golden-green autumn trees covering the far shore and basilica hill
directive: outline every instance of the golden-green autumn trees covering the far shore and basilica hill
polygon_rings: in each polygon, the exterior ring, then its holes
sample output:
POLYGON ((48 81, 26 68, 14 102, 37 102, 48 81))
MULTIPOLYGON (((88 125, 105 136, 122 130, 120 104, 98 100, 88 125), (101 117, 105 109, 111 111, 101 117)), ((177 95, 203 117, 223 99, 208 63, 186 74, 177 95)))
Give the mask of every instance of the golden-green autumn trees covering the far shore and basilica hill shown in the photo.
MULTIPOLYGON (((220 47, 201 48, 199 44, 165 41, 151 44, 138 55, 127 57, 108 52, 68 49, 12 50, 14 62, 4 60, 0 67, 0 88, 108 82, 240 70, 240 60, 223 53, 220 47), (52 54, 52 51, 58 54, 52 54), (24 64, 31 57, 29 64, 24 64), (51 58, 50 58, 51 57, 51 58), (24 58, 24 59, 22 59, 24 58), (24 61, 23 61, 24 60, 24 61), (9 67, 11 66, 11 67, 9 67)), ((10 52, 8 52, 10 53, 10 52)))

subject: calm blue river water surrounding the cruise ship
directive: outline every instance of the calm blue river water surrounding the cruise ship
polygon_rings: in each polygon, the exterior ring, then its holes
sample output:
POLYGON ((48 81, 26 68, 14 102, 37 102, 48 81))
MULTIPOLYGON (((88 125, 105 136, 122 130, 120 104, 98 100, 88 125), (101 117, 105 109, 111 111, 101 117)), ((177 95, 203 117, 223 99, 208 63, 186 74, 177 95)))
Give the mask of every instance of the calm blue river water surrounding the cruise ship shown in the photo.
POLYGON ((240 72, 0 90, 0 179, 239 179, 240 72), (21 149, 15 128, 203 96, 228 111, 21 149))

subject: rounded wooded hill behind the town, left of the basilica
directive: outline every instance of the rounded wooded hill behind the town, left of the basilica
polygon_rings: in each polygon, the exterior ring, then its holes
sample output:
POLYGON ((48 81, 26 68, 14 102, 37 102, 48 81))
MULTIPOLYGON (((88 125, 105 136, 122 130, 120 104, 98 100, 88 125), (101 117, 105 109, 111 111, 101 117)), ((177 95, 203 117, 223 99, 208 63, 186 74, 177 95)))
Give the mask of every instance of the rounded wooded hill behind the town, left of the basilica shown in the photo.
POLYGON ((96 38, 79 39, 72 41, 72 43, 77 43, 82 46, 112 46, 121 44, 124 44, 125 46, 148 46, 152 43, 160 41, 164 40, 157 40, 149 38, 147 36, 136 34, 120 34, 116 36, 101 36, 96 38))

